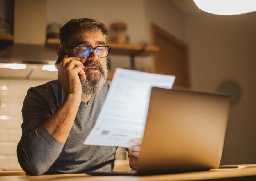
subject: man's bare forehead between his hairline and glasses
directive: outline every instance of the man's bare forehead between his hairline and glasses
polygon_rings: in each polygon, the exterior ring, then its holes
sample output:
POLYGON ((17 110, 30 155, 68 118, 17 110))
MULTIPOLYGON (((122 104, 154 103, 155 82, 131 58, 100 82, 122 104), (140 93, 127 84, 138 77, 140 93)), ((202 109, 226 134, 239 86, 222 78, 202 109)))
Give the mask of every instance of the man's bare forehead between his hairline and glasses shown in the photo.
POLYGON ((72 44, 105 44, 101 30, 80 30, 73 35, 72 44))

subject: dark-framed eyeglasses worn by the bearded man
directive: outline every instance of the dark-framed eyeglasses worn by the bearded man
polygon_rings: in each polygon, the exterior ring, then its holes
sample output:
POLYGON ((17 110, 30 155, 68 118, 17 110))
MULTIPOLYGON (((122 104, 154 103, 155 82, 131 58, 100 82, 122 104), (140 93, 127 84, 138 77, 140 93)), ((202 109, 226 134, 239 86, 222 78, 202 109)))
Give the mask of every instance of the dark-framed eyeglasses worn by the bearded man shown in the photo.
POLYGON ((90 46, 64 46, 63 48, 71 48, 76 49, 76 52, 80 58, 90 57, 92 51, 95 50, 96 54, 100 58, 104 58, 108 56, 110 52, 110 46, 97 46, 95 48, 90 46))

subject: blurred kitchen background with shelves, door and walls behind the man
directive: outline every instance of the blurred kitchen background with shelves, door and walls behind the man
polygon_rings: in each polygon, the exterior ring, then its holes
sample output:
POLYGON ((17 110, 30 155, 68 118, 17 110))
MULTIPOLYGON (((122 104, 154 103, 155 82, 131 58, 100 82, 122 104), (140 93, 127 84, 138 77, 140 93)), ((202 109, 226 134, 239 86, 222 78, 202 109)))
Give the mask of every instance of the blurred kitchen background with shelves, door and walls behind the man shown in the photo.
MULTIPOLYGON (((119 25, 119 34, 111 34, 119 38, 109 42, 115 47, 109 56, 110 77, 116 67, 131 67, 134 57, 138 70, 176 75, 176 86, 232 94, 221 164, 256 163, 255 12, 212 15, 199 10, 192 0, 0 0, 0 18, 10 19, 12 35, 0 29, 0 49, 12 43, 46 43, 47 52, 54 52, 58 40, 47 41, 47 26, 80 17, 100 19, 110 29, 114 23, 119 25), (175 50, 166 53, 162 45, 171 46, 170 42, 175 50), (135 55, 140 49, 144 56, 135 55)), ((1 19, 0 23, 2 28, 7 22, 1 19)), ((1 56, 0 51, 0 169, 21 169, 16 146, 23 99, 29 87, 57 79, 57 72, 31 62, 26 69, 8 69, 3 63, 29 62, 31 55, 20 55, 16 61, 1 56)), ((118 158, 127 158, 122 151, 118 158)))

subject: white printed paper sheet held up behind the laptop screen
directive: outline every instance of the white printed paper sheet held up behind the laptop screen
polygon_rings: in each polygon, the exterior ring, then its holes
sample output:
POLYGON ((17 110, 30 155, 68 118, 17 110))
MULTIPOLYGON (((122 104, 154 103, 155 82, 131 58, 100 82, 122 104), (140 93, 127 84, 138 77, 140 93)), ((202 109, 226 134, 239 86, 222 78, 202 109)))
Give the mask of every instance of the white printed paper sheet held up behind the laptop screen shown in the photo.
POLYGON ((129 147, 143 137, 152 87, 171 89, 172 75, 116 69, 100 114, 84 144, 129 147))

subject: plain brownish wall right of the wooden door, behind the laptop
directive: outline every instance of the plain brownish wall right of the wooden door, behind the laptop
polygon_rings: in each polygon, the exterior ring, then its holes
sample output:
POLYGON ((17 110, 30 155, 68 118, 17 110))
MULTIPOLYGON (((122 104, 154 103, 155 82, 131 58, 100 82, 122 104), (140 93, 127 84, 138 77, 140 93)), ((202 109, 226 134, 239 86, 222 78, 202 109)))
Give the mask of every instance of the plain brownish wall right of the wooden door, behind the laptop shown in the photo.
POLYGON ((230 107, 222 163, 256 163, 256 13, 187 16, 190 80, 195 89, 217 91, 224 81, 240 86, 230 107))

